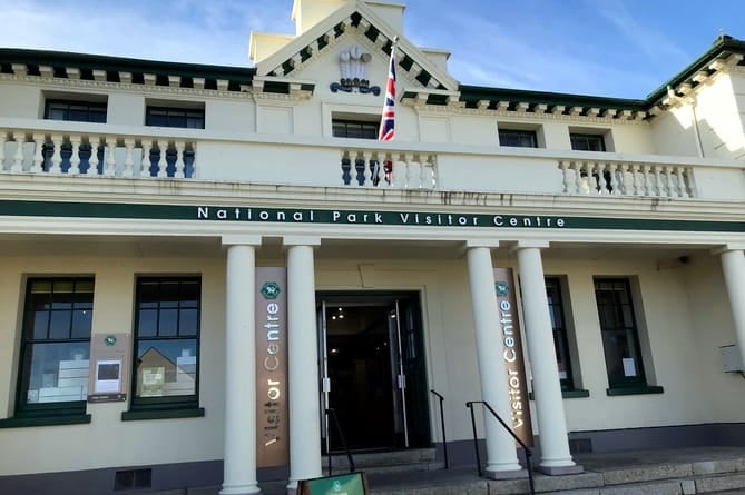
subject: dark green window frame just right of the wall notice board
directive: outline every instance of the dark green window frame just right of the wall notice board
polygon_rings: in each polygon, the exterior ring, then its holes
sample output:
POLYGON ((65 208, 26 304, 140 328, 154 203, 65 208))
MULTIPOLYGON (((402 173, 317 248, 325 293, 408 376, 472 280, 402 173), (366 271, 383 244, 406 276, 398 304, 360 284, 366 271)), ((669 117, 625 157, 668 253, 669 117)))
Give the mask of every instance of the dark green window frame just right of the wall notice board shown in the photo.
MULTIPOLYGON (((175 410, 175 414, 168 415, 167 417, 179 417, 179 416, 203 416, 204 409, 199 408, 199 374, 202 367, 202 357, 200 357, 200 334, 202 334, 202 277, 198 275, 169 275, 169 276, 153 276, 144 275, 138 276, 135 280, 135 305, 134 305, 134 330, 133 330, 133 367, 131 367, 131 384, 130 384, 130 400, 129 400, 129 410, 122 413, 122 419, 148 419, 161 417, 158 412, 168 412, 175 410), (179 295, 180 295, 180 284, 184 283, 196 283, 197 284, 197 300, 196 300, 196 330, 195 335, 182 336, 178 335, 178 328, 175 336, 168 335, 158 335, 156 331, 155 336, 140 336, 140 296, 143 290, 143 285, 145 283, 158 283, 159 285, 166 283, 179 283, 179 295), (156 397, 141 397, 137 395, 137 384, 138 384, 138 365, 139 359, 139 343, 147 340, 194 340, 195 343, 195 353, 196 353, 196 365, 195 365, 195 379, 194 379, 194 394, 190 395, 173 395, 173 396, 156 396, 156 397), (178 410, 194 410, 193 414, 178 414, 178 410), (155 413, 151 415, 150 413, 155 413)), ((180 319, 180 310, 185 309, 182 307, 183 299, 179 298, 177 306, 176 320, 180 319)), ((163 299, 158 299, 158 317, 161 309, 163 299)), ((187 308, 192 309, 192 308, 187 308)), ((180 325, 180 324, 179 324, 180 325)))

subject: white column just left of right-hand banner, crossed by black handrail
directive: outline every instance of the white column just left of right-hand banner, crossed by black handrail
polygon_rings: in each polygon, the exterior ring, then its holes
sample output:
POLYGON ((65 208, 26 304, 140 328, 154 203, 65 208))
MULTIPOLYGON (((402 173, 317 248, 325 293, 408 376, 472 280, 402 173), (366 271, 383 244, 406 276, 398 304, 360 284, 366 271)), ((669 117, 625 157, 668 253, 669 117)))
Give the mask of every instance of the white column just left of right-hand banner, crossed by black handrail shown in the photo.
MULTIPOLYGON (((493 241, 492 247, 499 242, 493 241)), ((507 392, 507 370, 503 366, 503 346, 499 338, 494 273, 489 247, 467 244, 468 273, 473 305, 476 347, 481 380, 481 399, 509 420, 511 417, 507 392)), ((518 463, 514 439, 490 414, 484 414, 487 434, 487 475, 492 478, 514 477, 522 474, 518 463)))

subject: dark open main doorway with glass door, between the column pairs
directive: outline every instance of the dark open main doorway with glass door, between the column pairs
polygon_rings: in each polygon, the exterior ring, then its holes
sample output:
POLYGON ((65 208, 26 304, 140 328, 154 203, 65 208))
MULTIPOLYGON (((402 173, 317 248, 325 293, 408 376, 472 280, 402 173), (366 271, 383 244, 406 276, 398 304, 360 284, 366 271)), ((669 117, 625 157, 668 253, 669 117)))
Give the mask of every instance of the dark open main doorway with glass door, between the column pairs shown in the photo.
POLYGON ((325 452, 429 446, 419 293, 318 294, 325 452), (334 423, 337 418, 339 428, 334 423))

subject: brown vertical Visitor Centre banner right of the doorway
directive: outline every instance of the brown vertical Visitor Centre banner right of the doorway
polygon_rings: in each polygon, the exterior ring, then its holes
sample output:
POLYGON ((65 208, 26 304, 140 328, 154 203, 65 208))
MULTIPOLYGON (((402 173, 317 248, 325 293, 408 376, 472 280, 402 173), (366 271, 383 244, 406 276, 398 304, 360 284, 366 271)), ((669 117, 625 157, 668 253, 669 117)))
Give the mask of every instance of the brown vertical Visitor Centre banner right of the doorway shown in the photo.
POLYGON ((507 369, 507 389, 510 395, 510 414, 514 434, 527 446, 533 445, 532 425, 530 423, 530 399, 526 366, 522 359, 522 338, 520 319, 514 296, 512 268, 494 268, 494 291, 497 293, 497 310, 499 338, 504 352, 502 359, 507 369))

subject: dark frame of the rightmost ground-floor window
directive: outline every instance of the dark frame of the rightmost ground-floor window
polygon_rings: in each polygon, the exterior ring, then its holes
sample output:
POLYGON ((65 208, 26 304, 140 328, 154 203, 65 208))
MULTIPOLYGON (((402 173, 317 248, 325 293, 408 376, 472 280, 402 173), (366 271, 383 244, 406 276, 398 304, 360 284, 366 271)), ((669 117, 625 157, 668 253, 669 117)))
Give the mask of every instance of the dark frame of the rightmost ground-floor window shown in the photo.
MULTIPOLYGON (((601 336, 601 341, 602 341, 602 352, 604 352, 604 360, 606 363, 606 375, 608 377, 608 387, 609 390, 612 389, 628 389, 628 388, 645 388, 648 387, 647 384, 647 377, 646 377, 646 372, 645 372, 645 365, 644 365, 644 354, 641 352, 641 340, 640 340, 640 335, 639 335, 639 325, 637 323, 637 313, 636 313, 636 306, 634 304, 634 291, 631 290, 631 284, 628 277, 594 277, 592 278, 592 285, 594 285, 594 291, 595 291, 595 300, 596 300, 596 307, 598 310, 598 320, 599 320, 599 328, 600 328, 600 336, 601 336), (614 311, 618 311, 620 308, 620 315, 624 315, 624 307, 627 308, 627 315, 629 316, 628 320, 624 321, 624 325, 621 326, 612 326, 608 327, 604 324, 606 318, 604 318, 601 314, 601 306, 600 301, 598 299, 598 288, 599 284, 614 284, 618 285, 617 287, 623 287, 623 291, 625 293, 625 299, 627 303, 624 301, 618 301, 616 298, 614 300, 614 305, 611 306, 614 311), (635 368, 637 372, 636 376, 633 377, 626 377, 626 376, 620 376, 617 374, 610 373, 609 364, 608 364, 608 358, 607 358, 607 350, 606 350, 606 333, 616 333, 616 331, 630 331, 633 338, 634 338, 634 344, 631 348, 629 348, 629 354, 633 353, 631 356, 635 359, 635 368)), ((616 291, 617 289, 614 288, 616 291)), ((623 318, 621 318, 623 319, 623 318)), ((623 359, 623 358, 621 358, 623 359)), ((621 367, 623 367, 623 360, 621 360, 621 367)))

